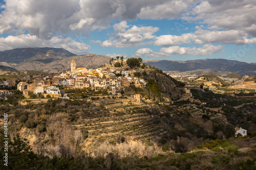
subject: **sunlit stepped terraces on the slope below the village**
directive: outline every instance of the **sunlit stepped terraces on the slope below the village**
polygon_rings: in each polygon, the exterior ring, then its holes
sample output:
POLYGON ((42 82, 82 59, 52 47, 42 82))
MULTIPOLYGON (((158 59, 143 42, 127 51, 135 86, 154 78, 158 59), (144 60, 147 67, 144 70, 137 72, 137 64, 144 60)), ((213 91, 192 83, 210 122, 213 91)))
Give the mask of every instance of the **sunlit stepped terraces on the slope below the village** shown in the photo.
MULTIPOLYGON (((115 105, 116 101, 107 106, 115 105)), ((105 108, 104 108, 105 109, 105 108)), ((159 124, 160 117, 148 113, 150 106, 123 102, 123 105, 106 109, 108 114, 97 115, 97 118, 81 118, 81 124, 73 125, 79 130, 87 130, 86 145, 97 145, 101 142, 114 142, 117 134, 121 133, 126 139, 141 142, 154 141, 167 133, 168 126, 159 124)))

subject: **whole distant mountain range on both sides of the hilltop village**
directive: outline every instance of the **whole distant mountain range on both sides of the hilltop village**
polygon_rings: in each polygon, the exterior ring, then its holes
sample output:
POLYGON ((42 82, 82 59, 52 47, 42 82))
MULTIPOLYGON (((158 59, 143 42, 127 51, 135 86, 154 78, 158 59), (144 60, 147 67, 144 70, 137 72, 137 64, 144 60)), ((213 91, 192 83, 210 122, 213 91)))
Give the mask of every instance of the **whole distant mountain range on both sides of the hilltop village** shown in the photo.
MULTIPOLYGON (((109 63, 110 57, 104 55, 87 54, 75 55, 63 48, 29 47, 15 48, 0 52, 0 69, 37 70, 44 72, 60 72, 70 70, 70 62, 75 60, 77 67, 88 69, 97 68, 109 63)), ((256 63, 246 63, 225 59, 201 60, 143 60, 163 71, 192 71, 192 70, 219 70, 233 72, 240 76, 256 75, 256 63)))

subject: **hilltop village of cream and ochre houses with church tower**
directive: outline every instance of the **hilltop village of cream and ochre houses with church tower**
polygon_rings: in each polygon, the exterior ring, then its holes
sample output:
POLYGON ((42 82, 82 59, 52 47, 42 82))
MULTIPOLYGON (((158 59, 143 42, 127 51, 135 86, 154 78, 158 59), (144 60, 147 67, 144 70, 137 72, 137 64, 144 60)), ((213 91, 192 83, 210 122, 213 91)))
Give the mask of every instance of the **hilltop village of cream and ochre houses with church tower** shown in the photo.
MULTIPOLYGON (((71 69, 67 72, 58 74, 40 74, 36 76, 27 76, 25 78, 11 78, 0 82, 1 87, 12 87, 17 84, 17 90, 21 91, 25 98, 39 95, 45 98, 61 97, 62 88, 70 89, 105 89, 112 94, 117 89, 129 87, 134 84, 136 87, 144 87, 146 82, 139 77, 135 77, 136 69, 126 64, 126 59, 117 57, 110 63, 97 69, 87 69, 85 67, 76 67, 76 62, 71 61, 71 69), (19 83, 17 83, 19 82, 19 83)), ((142 61, 142 60, 140 60, 142 61)), ((139 63, 143 65, 143 63, 139 63)), ((1 90, 0 95, 11 94, 12 90, 1 90)))

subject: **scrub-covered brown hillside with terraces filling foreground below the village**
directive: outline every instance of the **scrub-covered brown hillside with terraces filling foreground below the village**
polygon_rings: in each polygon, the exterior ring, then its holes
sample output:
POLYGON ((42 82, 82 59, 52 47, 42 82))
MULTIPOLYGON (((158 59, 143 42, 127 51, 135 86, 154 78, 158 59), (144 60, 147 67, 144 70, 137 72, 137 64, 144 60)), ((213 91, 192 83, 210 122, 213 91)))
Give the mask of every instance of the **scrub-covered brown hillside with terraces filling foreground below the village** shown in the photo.
MULTIPOLYGON (((155 74, 160 76, 153 71, 148 77, 155 74)), ((12 119, 10 138, 19 133, 31 147, 19 151, 23 142, 17 136, 9 146, 10 166, 23 169, 20 162, 26 158, 31 159, 26 167, 36 162, 47 169, 62 167, 63 161, 69 169, 253 169, 254 99, 199 89, 174 103, 137 103, 130 96, 152 89, 127 87, 123 95, 102 91, 96 96, 99 91, 89 90, 78 99, 40 99, 26 105, 14 98, 0 100, 1 112, 12 119), (248 129, 250 138, 233 138, 233 127, 248 129), (229 139, 222 140, 223 135, 229 139)), ((4 119, 0 120, 2 125, 4 119)))

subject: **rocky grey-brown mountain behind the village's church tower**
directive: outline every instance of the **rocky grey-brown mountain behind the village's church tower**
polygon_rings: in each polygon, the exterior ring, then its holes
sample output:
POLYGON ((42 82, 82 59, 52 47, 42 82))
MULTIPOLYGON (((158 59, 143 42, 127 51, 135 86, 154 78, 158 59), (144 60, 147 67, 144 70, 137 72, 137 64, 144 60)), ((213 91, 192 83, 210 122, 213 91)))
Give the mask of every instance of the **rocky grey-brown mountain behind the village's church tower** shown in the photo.
POLYGON ((110 57, 96 54, 75 55, 63 48, 30 47, 0 52, 0 65, 16 70, 59 72, 70 69, 74 59, 77 67, 96 68, 109 63, 110 57))

